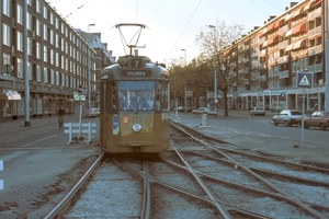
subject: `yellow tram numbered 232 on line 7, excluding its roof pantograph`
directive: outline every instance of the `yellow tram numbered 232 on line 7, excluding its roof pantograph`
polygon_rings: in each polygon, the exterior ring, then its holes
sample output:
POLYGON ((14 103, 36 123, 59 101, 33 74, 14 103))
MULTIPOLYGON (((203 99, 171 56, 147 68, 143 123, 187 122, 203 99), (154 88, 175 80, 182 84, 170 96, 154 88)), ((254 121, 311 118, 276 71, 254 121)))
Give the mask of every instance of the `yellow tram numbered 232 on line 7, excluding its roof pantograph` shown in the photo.
POLYGON ((169 72, 145 56, 124 56, 101 71, 100 147, 149 158, 169 148, 169 72))

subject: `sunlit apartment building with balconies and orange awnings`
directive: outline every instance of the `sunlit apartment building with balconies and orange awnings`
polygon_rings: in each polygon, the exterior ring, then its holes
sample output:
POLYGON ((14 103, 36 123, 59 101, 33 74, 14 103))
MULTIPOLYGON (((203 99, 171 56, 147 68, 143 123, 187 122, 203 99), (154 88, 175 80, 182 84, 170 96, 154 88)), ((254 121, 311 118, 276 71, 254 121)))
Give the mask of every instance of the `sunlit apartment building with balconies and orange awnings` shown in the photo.
POLYGON ((230 107, 302 110, 304 95, 297 76, 313 72, 313 88, 305 89, 305 108, 325 108, 324 4, 322 0, 291 2, 283 14, 270 16, 235 44, 241 56, 237 66, 246 78, 231 90, 230 107))

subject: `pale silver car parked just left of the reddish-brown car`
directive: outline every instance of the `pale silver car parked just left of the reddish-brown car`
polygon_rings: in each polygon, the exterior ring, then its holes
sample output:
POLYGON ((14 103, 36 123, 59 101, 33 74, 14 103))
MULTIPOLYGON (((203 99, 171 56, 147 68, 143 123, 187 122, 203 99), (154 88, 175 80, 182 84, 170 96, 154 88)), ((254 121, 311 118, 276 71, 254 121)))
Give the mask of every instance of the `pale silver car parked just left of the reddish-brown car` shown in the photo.
POLYGON ((279 115, 273 116, 274 126, 285 124, 287 127, 302 124, 303 113, 298 110, 283 110, 279 115))

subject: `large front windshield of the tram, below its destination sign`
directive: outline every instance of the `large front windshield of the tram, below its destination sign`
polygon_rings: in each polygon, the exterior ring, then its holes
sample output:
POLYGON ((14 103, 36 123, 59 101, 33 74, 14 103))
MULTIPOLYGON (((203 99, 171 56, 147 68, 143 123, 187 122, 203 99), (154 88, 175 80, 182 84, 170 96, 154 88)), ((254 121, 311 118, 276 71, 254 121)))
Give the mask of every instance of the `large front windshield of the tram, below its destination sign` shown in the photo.
POLYGON ((120 110, 154 110, 155 87, 155 81, 118 81, 117 94, 120 110))

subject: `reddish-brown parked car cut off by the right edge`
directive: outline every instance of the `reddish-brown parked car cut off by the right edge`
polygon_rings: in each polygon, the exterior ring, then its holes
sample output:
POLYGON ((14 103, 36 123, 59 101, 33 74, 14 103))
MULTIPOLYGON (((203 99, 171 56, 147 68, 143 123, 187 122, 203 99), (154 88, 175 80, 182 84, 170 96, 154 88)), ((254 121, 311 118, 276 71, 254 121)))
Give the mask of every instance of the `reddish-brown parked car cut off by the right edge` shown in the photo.
POLYGON ((316 111, 309 117, 304 119, 304 128, 319 127, 325 130, 329 127, 329 112, 316 111))

